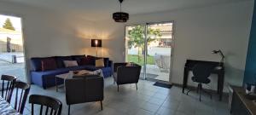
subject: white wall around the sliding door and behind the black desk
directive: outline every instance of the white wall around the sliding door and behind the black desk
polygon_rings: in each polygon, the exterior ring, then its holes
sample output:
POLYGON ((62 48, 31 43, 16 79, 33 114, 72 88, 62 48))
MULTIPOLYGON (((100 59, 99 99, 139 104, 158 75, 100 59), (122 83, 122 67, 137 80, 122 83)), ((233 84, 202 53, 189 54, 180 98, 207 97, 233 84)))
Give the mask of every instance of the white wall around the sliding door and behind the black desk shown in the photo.
MULTIPOLYGON (((172 83, 183 82, 183 67, 187 59, 219 61, 219 55, 212 55, 211 52, 213 49, 221 49, 226 56, 225 85, 241 85, 252 14, 253 1, 245 1, 165 13, 131 15, 125 25, 174 20, 172 83)), ((102 32, 109 32, 111 35, 110 40, 104 42, 113 52, 109 56, 115 61, 124 61, 124 24, 119 24, 118 27, 114 26, 113 20, 102 20, 97 26, 102 32)), ((212 81, 210 89, 217 89, 217 77, 212 77, 212 81)), ((189 84, 191 83, 190 80, 189 84)))

